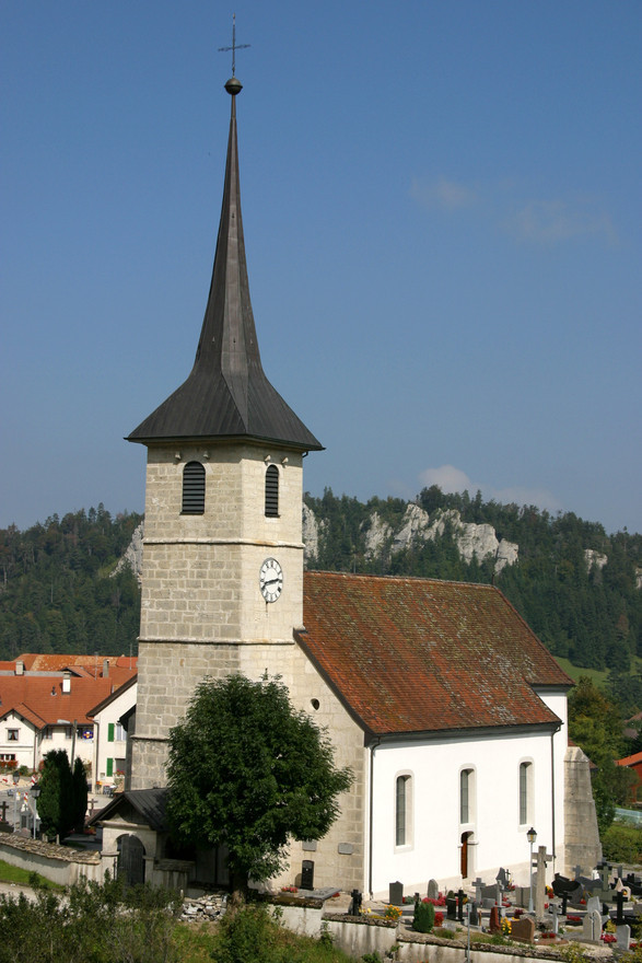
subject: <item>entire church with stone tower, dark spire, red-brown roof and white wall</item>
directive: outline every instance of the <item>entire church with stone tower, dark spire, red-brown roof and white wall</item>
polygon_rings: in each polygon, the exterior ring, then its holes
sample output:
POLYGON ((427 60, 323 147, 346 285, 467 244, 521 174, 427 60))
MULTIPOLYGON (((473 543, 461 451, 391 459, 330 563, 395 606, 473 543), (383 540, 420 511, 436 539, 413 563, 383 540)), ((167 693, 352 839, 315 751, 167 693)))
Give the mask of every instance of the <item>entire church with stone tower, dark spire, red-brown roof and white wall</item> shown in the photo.
MULTIPOLYGON (((572 681, 493 585, 304 571, 303 460, 323 445, 268 381, 241 216, 236 100, 212 280, 187 380, 128 437, 147 448, 138 700, 126 786, 94 822, 137 879, 225 882, 224 854, 173 858, 168 732, 203 676, 279 674, 354 782, 323 839, 270 886, 407 893, 500 867, 527 884, 599 856, 572 681), (135 865, 138 869, 135 871, 135 865), (138 875, 137 875, 138 873, 138 875)), ((221 738, 224 738, 222 734, 221 738)), ((177 854, 174 854, 177 856, 177 854)), ((128 871, 129 871, 128 870, 128 871)))

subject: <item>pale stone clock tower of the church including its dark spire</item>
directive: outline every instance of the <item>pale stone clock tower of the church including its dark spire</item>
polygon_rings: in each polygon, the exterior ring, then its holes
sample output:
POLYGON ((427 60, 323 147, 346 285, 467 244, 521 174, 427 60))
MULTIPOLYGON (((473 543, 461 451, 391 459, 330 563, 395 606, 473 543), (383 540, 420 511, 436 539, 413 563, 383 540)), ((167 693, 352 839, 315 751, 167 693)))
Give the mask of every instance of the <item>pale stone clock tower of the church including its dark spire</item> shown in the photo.
POLYGON ((267 380, 249 300, 232 97, 221 222, 188 379, 147 445, 131 789, 165 785, 167 735, 205 676, 291 675, 303 622, 302 460, 322 445, 267 380))

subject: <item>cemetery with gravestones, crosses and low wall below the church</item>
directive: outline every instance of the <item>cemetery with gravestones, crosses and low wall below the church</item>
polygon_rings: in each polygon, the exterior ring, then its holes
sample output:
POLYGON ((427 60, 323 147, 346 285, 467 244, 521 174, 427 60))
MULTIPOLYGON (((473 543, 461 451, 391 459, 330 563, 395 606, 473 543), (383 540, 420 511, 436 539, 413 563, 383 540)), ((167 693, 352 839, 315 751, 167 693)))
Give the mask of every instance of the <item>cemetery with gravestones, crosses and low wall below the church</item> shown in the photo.
POLYGON ((431 880, 427 893, 407 894, 401 882, 392 882, 387 903, 369 903, 357 890, 348 895, 293 886, 265 898, 280 907, 291 929, 326 930, 355 958, 455 963, 464 953, 467 963, 480 955, 485 963, 507 963, 507 956, 563 959, 570 943, 600 959, 635 949, 642 877, 603 862, 591 877, 577 867, 572 879, 556 874, 547 885, 547 857, 544 846, 534 854, 532 887, 514 885, 510 871, 500 869, 494 880, 478 877, 457 891, 443 892, 431 880))

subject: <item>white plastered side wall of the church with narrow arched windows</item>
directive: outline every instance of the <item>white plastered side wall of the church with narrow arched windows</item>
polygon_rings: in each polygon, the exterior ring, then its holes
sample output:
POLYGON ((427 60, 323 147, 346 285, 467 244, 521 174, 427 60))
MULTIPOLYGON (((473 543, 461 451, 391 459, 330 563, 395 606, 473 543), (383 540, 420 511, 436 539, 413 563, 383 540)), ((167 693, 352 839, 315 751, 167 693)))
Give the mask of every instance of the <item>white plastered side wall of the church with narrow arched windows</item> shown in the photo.
MULTIPOLYGON (((372 891, 387 895, 399 880, 405 891, 425 892, 428 880, 442 887, 463 882, 462 834, 468 840, 467 880, 481 874, 489 884, 498 869, 517 883, 528 880, 526 832, 537 845, 552 845, 551 739, 549 732, 407 741, 375 749, 372 891), (521 823, 520 765, 532 765, 527 822, 521 823), (460 773, 471 771, 468 820, 460 822, 460 773), (396 780, 411 778, 411 826, 406 845, 396 845, 396 780)), ((556 813, 557 815, 557 813, 556 813)), ((552 866, 547 870, 552 875, 552 866)))

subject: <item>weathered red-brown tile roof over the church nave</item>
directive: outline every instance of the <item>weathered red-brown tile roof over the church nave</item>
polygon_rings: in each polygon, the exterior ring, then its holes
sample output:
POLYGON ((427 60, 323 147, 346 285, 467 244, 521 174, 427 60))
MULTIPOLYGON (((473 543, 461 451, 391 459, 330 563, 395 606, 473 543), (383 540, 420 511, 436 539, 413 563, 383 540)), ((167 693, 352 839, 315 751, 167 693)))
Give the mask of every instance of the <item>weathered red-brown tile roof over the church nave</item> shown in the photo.
POLYGON ((305 572, 304 651, 375 734, 558 722, 533 686, 572 680, 482 584, 305 572))

